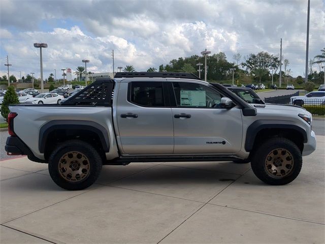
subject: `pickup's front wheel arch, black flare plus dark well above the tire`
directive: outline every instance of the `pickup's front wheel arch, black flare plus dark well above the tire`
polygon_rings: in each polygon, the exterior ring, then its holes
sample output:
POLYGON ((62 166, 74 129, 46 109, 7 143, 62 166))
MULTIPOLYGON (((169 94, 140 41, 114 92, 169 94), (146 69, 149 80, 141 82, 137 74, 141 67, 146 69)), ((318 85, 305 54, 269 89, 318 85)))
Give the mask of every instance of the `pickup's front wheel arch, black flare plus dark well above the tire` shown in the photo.
POLYGON ((262 137, 270 138, 282 136, 295 142, 302 151, 304 143, 308 141, 305 129, 290 124, 290 121, 283 120, 256 120, 252 123, 246 132, 245 150, 252 151, 256 143, 260 142, 262 137))

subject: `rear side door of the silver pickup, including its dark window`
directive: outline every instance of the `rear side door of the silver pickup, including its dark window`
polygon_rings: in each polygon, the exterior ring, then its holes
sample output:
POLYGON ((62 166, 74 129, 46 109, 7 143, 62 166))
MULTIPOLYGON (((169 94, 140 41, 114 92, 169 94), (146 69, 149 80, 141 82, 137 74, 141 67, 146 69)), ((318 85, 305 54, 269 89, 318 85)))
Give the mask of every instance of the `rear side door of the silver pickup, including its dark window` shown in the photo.
POLYGON ((174 128, 165 81, 121 81, 116 118, 122 154, 173 154, 174 128))

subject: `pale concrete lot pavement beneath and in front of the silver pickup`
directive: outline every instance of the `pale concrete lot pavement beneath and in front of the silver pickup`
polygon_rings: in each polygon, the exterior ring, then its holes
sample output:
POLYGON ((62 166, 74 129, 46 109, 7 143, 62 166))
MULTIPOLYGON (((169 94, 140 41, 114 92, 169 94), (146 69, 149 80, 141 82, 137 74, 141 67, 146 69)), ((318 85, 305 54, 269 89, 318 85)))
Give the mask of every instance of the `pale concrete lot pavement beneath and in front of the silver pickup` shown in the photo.
POLYGON ((104 166, 95 185, 71 192, 46 164, 2 161, 0 242, 323 243, 325 136, 316 134, 298 178, 277 187, 249 164, 133 163, 104 166))

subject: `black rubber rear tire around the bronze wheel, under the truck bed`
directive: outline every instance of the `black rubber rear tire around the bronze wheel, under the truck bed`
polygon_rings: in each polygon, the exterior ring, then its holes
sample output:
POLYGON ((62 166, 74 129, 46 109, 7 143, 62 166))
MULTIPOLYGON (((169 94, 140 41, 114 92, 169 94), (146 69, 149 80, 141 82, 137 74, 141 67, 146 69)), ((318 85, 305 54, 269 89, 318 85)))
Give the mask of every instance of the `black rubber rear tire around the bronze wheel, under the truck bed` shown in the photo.
POLYGON ((59 187, 66 190, 83 190, 91 186, 102 170, 102 158, 100 157, 98 151, 96 151, 89 143, 81 140, 69 140, 58 145, 51 153, 48 160, 48 169, 51 178, 59 187), (69 152, 77 151, 80 152, 88 159, 89 172, 80 181, 72 182, 61 176, 59 172, 60 160, 64 155, 69 152))

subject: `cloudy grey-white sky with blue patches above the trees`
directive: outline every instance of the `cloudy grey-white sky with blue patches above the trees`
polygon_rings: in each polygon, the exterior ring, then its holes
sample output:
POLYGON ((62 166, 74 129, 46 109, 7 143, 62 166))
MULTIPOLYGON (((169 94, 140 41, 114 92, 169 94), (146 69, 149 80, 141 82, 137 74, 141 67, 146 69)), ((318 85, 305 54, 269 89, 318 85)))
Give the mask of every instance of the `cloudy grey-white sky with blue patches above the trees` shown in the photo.
MULTIPOLYGON (((309 57, 325 47, 325 1, 311 0, 309 57)), ((259 51, 288 58, 293 76, 305 71, 307 0, 214 1, 0 1, 0 74, 7 73, 6 56, 17 78, 40 75, 39 49, 44 77, 61 68, 75 71, 81 59, 87 70, 112 72, 133 65, 137 71, 158 68, 173 58, 207 48, 225 52, 234 62, 259 51)), ((315 66, 315 70, 319 67, 315 66)))

